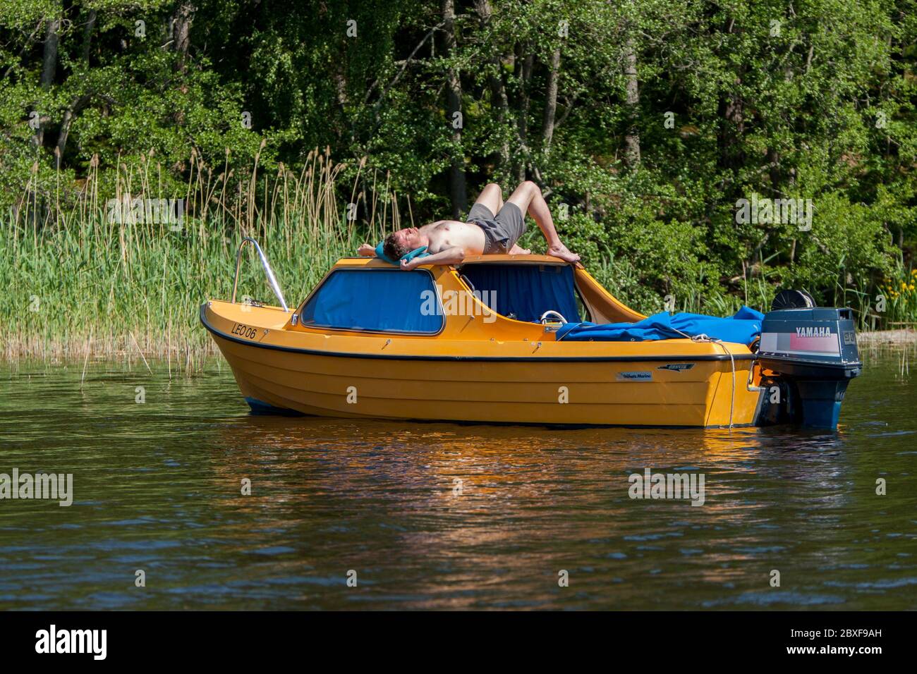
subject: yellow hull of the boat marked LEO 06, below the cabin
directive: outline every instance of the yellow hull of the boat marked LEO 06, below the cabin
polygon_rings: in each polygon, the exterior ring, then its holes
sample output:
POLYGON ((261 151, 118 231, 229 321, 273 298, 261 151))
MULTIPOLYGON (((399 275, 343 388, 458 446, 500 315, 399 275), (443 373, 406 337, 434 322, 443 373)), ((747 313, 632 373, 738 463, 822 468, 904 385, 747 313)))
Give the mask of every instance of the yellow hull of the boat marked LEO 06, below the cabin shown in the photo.
POLYGON ((254 343, 207 320, 253 412, 538 425, 752 425, 751 359, 344 355, 254 343), (733 368, 735 367, 735 372, 733 368), (734 386, 735 381, 735 386, 734 386))

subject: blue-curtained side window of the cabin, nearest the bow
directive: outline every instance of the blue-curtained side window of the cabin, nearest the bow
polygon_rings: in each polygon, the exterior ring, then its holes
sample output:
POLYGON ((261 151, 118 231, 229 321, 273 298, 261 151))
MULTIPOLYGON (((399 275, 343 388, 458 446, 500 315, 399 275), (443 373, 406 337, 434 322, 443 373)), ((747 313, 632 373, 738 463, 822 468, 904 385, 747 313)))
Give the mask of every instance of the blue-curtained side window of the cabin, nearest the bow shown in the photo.
POLYGON ((429 271, 332 271, 306 301, 303 326, 436 335, 443 313, 429 271))

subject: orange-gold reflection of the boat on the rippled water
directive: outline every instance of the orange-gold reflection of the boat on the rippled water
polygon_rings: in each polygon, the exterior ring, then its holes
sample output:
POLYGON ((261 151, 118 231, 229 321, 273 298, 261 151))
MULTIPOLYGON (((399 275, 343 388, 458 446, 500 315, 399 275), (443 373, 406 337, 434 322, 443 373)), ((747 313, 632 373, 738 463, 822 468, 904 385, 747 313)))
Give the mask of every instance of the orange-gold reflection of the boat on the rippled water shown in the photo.
POLYGON ((214 439, 221 476, 255 484, 239 507, 337 503, 359 516, 365 506, 394 524, 441 516, 452 525, 439 522, 430 536, 447 546, 481 536, 511 545, 545 518, 562 520, 565 508, 593 514, 589 525, 578 517, 578 536, 668 527, 671 517, 713 527, 759 523, 776 516, 768 509, 785 503, 788 490, 843 501, 834 490, 845 473, 843 443, 843 434, 768 428, 558 430, 249 415, 214 439), (647 468, 703 473, 702 507, 653 502, 646 505, 660 519, 628 515, 635 506, 628 477, 647 468))

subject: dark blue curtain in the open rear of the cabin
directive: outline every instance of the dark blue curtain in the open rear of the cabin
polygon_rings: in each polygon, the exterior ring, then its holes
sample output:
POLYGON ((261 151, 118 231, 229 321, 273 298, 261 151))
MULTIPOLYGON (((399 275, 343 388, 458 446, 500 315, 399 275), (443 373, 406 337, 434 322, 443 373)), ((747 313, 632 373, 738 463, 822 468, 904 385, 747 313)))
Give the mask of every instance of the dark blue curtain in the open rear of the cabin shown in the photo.
POLYGON ((568 321, 580 320, 573 270, 568 266, 531 264, 467 264, 461 272, 481 293, 481 300, 500 315, 537 322, 546 311, 568 321))

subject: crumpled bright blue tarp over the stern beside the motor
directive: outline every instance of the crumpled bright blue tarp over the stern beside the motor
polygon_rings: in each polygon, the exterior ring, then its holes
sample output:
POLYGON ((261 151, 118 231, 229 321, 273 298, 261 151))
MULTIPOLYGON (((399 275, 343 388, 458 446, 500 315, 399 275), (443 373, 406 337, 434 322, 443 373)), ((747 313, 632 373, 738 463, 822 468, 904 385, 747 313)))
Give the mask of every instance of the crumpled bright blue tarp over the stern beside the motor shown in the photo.
POLYGON ((668 312, 660 312, 636 323, 568 323, 558 329, 558 341, 640 342, 706 335, 724 342, 751 344, 761 333, 763 319, 764 314, 747 306, 743 306, 730 318, 702 314, 668 315, 668 312))

